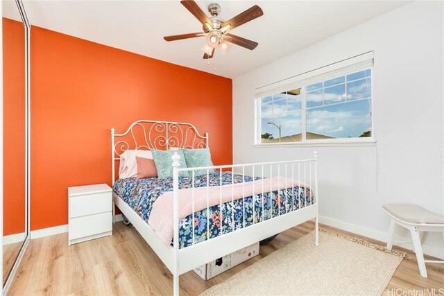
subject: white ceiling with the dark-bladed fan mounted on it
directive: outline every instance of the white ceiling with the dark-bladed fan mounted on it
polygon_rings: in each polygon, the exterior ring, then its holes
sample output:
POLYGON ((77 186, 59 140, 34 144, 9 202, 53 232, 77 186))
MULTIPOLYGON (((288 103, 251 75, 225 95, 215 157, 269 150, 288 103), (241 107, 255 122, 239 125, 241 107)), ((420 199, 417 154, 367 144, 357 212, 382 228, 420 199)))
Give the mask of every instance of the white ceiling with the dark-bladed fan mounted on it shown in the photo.
MULTIPOLYGON (((214 1, 196 1, 207 12, 214 1)), ((234 78, 310 44, 356 26, 407 1, 216 1, 223 19, 255 4, 264 15, 230 33, 258 42, 253 51, 231 46, 203 60, 205 38, 166 42, 166 35, 202 31, 180 1, 24 1, 34 26, 139 53, 158 60, 234 78), (214 68, 216 71, 214 71, 214 68)), ((3 17, 19 20, 14 1, 3 1, 3 17)))

